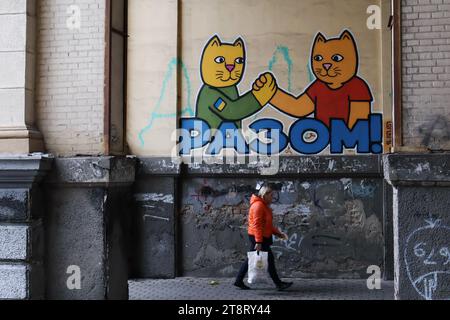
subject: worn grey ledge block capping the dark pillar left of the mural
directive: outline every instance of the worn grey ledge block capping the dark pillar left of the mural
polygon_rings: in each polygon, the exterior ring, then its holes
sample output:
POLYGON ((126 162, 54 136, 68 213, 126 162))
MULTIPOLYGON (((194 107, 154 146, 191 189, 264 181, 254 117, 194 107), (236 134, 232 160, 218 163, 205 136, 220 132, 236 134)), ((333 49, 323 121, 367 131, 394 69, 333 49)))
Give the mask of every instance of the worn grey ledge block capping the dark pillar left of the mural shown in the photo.
POLYGON ((131 185, 135 180, 134 157, 80 157, 55 159, 46 183, 60 185, 131 185))

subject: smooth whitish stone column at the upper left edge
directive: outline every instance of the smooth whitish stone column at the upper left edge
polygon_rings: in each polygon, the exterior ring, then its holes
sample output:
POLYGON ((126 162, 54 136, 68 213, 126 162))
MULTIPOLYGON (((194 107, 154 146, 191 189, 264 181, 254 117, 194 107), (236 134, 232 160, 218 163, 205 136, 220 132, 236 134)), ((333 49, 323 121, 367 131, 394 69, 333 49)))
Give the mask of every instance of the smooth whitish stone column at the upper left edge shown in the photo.
POLYGON ((43 151, 35 128, 35 1, 0 3, 0 150, 43 151))

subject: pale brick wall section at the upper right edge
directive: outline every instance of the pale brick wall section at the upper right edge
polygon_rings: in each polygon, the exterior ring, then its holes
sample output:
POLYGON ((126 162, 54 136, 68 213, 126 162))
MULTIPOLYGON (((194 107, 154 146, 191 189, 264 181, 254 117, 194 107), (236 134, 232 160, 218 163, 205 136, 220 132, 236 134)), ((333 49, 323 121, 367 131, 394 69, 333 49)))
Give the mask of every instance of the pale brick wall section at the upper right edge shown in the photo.
POLYGON ((450 1, 403 0, 403 137, 450 150, 450 1))

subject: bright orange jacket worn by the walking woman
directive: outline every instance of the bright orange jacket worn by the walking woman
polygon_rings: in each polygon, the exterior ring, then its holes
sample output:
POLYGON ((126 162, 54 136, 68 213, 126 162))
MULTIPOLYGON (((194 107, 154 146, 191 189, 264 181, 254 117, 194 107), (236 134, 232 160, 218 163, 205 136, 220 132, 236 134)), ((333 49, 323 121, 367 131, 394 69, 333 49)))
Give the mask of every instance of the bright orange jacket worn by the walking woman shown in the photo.
POLYGON ((262 243, 263 238, 271 238, 273 234, 281 234, 280 230, 273 226, 272 209, 255 195, 250 200, 248 234, 255 237, 256 243, 262 243))

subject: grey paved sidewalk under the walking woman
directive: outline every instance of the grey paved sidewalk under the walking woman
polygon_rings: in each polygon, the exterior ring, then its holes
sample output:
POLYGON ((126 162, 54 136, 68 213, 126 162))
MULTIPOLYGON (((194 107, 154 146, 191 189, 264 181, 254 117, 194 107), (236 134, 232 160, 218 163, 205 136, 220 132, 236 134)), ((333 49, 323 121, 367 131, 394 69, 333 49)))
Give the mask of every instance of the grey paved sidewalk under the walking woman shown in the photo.
MULTIPOLYGON (((285 279, 288 280, 288 279, 285 279)), ((177 278, 173 280, 131 280, 130 300, 393 300, 394 283, 383 281, 381 290, 367 289, 366 280, 290 279, 294 285, 284 291, 272 284, 239 290, 234 279, 177 278)))

